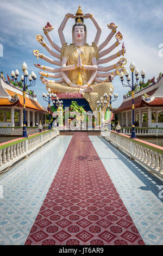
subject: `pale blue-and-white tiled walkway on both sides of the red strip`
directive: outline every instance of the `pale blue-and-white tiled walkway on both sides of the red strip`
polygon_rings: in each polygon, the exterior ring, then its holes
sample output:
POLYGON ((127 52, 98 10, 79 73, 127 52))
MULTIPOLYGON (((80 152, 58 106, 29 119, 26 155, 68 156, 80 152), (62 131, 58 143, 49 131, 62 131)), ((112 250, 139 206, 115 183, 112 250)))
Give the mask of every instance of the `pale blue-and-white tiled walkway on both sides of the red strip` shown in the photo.
MULTIPOLYGON (((0 179, 0 244, 23 245, 72 136, 60 136, 0 179)), ((103 138, 90 136, 143 241, 163 245, 161 182, 103 138)))

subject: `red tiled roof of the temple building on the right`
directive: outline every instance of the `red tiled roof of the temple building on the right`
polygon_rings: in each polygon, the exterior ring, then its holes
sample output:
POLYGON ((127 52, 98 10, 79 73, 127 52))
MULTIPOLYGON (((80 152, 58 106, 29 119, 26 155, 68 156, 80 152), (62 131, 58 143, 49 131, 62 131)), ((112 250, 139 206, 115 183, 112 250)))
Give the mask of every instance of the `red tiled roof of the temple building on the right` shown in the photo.
MULTIPOLYGON (((151 90, 151 92, 148 92, 148 95, 149 96, 152 96, 154 94, 154 92, 156 91, 156 89, 154 90, 151 90)), ((152 106, 153 105, 153 102, 156 100, 156 99, 160 99, 160 98, 156 98, 155 100, 153 100, 151 103, 147 103, 145 102, 144 100, 142 100, 142 95, 138 96, 138 97, 135 97, 134 98, 134 105, 135 105, 135 108, 139 108, 139 107, 142 107, 143 105, 145 106, 152 106)), ((163 99, 162 99, 163 100, 163 99)), ((128 101, 125 101, 125 102, 122 102, 121 106, 119 108, 116 109, 116 113, 117 112, 122 112, 124 110, 128 110, 128 109, 131 109, 132 107, 132 104, 133 104, 133 100, 132 98, 128 101)), ((154 104, 155 105, 155 104, 154 104)), ((161 105, 163 106, 163 102, 161 103, 161 105)))

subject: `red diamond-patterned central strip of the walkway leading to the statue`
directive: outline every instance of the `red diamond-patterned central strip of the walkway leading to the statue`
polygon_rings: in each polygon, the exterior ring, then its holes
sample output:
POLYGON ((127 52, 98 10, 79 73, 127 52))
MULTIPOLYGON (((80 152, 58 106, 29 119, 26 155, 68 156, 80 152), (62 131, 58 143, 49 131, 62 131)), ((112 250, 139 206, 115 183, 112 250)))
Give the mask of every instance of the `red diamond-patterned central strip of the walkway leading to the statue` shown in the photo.
POLYGON ((85 133, 74 133, 25 245, 144 245, 85 133))

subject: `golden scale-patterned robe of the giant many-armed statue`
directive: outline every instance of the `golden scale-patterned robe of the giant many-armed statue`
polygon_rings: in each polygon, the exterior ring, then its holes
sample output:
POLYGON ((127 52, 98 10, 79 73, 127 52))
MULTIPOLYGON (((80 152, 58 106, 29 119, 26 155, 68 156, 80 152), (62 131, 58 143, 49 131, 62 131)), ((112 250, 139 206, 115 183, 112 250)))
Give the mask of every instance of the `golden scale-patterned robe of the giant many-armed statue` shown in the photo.
MULTIPOLYGON (((98 59, 97 46, 94 43, 92 43, 91 46, 88 44, 85 44, 80 56, 81 56, 83 65, 92 65, 91 64, 92 58, 96 57, 96 59, 98 59)), ((62 46, 61 61, 62 61, 62 57, 67 58, 67 65, 77 65, 78 53, 74 44, 67 45, 66 43, 62 46)), ((90 77, 91 77, 90 70, 84 70, 80 68, 70 70, 68 71, 69 80, 72 83, 77 84, 79 72, 82 75, 83 85, 87 84, 87 82, 90 80, 90 77)), ((90 87, 92 89, 92 93, 82 93, 82 95, 89 102, 89 105, 93 112, 93 111, 96 111, 96 107, 97 107, 96 101, 97 100, 101 101, 101 97, 103 97, 104 93, 107 93, 109 95, 110 89, 112 89, 113 91, 113 87, 112 87, 112 84, 109 82, 93 83, 91 84, 90 87)), ((66 82, 62 84, 58 84, 58 83, 53 83, 53 81, 51 83, 47 83, 46 88, 47 89, 50 88, 52 93, 66 93, 66 92, 79 93, 79 90, 80 90, 79 88, 72 88, 68 86, 66 82)), ((108 104, 109 102, 106 105, 103 104, 102 111, 104 112, 106 111, 108 104)))

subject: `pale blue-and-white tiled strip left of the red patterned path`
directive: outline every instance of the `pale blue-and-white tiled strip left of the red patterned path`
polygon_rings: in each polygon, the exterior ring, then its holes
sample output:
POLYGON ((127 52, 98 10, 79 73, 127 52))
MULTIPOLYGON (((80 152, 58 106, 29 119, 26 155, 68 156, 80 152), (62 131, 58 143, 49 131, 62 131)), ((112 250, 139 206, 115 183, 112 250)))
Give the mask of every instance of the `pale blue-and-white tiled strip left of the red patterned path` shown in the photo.
POLYGON ((0 179, 0 245, 23 245, 72 136, 54 138, 0 179))

